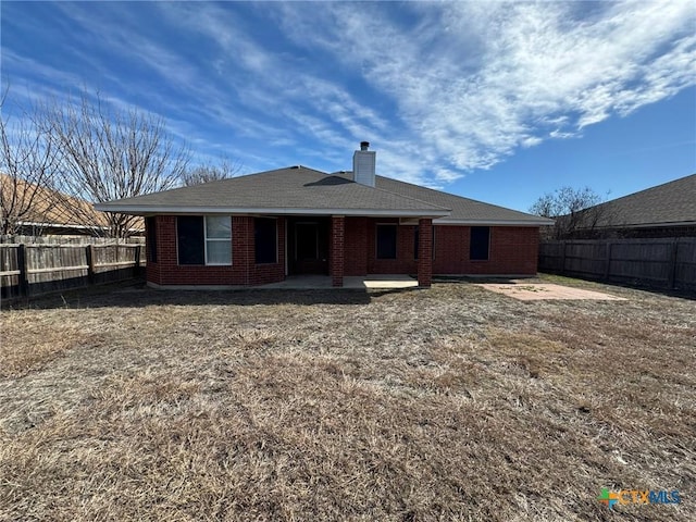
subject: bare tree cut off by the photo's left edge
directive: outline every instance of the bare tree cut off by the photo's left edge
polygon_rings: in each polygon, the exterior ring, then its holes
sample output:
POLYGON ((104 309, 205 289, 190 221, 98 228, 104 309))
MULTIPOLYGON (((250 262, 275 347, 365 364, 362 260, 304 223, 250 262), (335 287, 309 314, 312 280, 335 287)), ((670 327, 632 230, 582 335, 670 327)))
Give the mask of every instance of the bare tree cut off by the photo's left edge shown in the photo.
POLYGON ((28 223, 37 229, 50 221, 60 154, 32 111, 22 110, 15 120, 4 114, 8 92, 0 99, 0 233, 14 235, 28 223))

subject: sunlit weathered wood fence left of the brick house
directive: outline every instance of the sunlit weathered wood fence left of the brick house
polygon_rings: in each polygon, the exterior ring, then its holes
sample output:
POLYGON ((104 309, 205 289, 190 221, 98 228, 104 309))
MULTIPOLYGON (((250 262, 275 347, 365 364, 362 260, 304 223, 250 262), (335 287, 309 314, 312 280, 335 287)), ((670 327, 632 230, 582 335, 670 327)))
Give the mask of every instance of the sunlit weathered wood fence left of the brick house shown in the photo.
POLYGON ((5 298, 30 297, 139 276, 142 245, 0 245, 5 298))

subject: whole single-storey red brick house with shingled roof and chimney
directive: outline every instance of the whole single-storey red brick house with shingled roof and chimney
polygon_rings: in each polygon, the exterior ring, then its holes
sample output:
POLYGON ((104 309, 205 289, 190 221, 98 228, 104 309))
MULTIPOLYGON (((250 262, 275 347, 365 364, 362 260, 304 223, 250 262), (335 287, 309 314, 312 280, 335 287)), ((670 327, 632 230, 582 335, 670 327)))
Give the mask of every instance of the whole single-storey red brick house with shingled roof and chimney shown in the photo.
POLYGON ((352 172, 306 166, 97 204, 146 217, 156 287, 261 285, 295 274, 536 274, 550 220, 375 175, 363 141, 352 172))

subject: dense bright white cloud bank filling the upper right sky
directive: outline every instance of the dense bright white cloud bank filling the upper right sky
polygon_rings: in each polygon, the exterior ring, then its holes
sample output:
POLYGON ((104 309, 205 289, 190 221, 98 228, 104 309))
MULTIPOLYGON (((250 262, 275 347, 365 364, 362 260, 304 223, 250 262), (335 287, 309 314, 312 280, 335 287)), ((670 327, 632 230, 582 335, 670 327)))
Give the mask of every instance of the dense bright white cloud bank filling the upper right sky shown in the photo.
POLYGON ((432 162, 436 178, 579 136, 696 83, 692 2, 409 8, 421 20, 411 29, 385 4, 290 5, 286 32, 391 97, 407 123, 399 138, 425 144, 421 166, 432 162))

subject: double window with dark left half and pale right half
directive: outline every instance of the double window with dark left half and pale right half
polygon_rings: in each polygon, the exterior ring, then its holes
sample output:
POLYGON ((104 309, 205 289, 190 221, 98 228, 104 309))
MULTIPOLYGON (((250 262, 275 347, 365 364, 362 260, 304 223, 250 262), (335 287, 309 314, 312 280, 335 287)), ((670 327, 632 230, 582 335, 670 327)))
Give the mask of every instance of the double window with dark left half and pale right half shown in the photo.
POLYGON ((232 264, 228 215, 179 215, 176 233, 178 264, 232 264))

